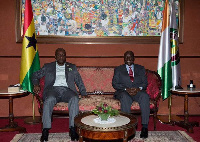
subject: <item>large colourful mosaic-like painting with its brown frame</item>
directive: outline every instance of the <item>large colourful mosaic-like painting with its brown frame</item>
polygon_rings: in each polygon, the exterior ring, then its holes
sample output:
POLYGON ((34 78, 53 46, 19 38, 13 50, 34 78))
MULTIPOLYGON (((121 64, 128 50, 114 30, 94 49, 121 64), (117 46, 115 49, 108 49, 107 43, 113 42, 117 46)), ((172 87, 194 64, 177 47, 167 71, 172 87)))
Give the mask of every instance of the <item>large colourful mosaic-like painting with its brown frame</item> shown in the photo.
MULTIPOLYGON (((171 0, 169 0, 171 1, 171 0)), ((175 1, 183 43, 184 0, 175 1)), ((159 43, 165 0, 31 0, 38 43, 159 43)), ((16 42, 22 42, 25 0, 16 0, 16 42)))

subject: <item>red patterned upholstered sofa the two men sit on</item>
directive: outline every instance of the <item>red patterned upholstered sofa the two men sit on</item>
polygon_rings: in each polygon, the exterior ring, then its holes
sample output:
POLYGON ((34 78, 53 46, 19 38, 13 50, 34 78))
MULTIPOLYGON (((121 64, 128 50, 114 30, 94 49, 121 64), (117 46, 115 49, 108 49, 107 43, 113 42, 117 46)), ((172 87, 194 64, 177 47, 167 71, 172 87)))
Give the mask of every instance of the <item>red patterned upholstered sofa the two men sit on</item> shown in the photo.
MULTIPOLYGON (((114 109, 120 110, 120 102, 113 98, 115 92, 112 87, 112 78, 115 67, 77 67, 89 98, 81 98, 79 101, 80 111, 91 111, 101 103, 107 103, 114 109)), ((150 96, 150 113, 153 114, 154 130, 156 130, 157 112, 159 100, 161 98, 161 78, 155 71, 146 69, 148 80, 147 93, 150 96)), ((41 91, 36 94, 38 109, 42 115, 43 101, 42 94, 44 88, 44 78, 40 79, 41 91)), ((131 112, 140 113, 140 107, 137 102, 133 102, 131 112)), ((68 114, 68 104, 64 102, 57 103, 54 106, 53 114, 68 114)))

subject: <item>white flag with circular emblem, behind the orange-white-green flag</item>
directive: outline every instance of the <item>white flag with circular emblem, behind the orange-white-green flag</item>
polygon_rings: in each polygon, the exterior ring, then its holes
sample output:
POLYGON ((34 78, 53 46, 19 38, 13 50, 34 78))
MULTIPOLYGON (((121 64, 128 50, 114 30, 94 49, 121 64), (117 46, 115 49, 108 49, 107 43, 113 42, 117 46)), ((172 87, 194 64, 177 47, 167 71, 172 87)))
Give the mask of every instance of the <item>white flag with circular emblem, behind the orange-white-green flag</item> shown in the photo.
POLYGON ((181 86, 181 68, 178 44, 178 28, 176 22, 175 3, 172 0, 170 16, 170 42, 171 42, 171 65, 173 87, 181 86))

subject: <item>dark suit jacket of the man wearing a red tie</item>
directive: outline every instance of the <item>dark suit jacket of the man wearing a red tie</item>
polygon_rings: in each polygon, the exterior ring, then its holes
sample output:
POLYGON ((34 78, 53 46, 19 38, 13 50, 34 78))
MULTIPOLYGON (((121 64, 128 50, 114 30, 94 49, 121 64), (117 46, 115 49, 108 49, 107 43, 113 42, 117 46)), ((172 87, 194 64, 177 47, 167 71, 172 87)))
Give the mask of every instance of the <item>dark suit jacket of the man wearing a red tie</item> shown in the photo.
POLYGON ((115 90, 125 90, 125 88, 142 87, 146 90, 148 85, 145 75, 145 68, 141 65, 134 64, 134 81, 131 82, 126 65, 120 65, 115 68, 112 79, 112 86, 115 90))

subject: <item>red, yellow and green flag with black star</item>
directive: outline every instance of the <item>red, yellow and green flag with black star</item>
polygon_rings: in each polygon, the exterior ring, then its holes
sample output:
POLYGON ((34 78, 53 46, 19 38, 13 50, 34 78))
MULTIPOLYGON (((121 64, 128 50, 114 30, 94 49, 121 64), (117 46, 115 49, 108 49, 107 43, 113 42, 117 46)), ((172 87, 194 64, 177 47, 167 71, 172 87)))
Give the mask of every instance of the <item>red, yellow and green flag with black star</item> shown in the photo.
POLYGON ((39 53, 31 0, 25 1, 24 29, 21 55, 20 85, 22 90, 33 93, 31 76, 40 69, 39 53))

